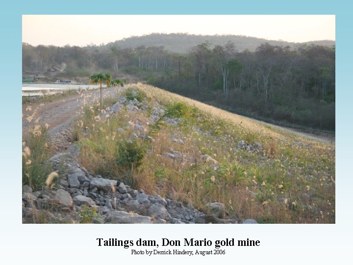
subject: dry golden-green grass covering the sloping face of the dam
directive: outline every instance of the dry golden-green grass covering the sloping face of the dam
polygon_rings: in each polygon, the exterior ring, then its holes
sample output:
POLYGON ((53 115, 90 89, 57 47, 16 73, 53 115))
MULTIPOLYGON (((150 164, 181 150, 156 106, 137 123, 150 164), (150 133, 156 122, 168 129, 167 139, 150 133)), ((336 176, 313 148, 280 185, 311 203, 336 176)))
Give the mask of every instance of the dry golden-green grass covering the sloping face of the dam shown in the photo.
MULTIPOLYGON (((88 171, 192 203, 205 212, 207 203, 221 202, 229 216, 262 223, 335 222, 333 144, 264 126, 152 86, 137 84, 122 91, 120 96, 138 97, 147 108, 133 112, 122 107, 108 116, 99 113, 98 100, 82 107, 74 131, 80 160, 88 171), (153 124, 151 109, 158 104, 165 111, 153 124), (168 119, 177 124, 167 124, 168 119), (131 139, 137 125, 154 141, 131 139), (184 144, 172 141, 173 137, 184 144), (241 140, 258 142, 262 150, 240 149, 241 140), (180 156, 166 156, 171 148, 180 156)), ((103 105, 117 101, 107 98, 103 105)))

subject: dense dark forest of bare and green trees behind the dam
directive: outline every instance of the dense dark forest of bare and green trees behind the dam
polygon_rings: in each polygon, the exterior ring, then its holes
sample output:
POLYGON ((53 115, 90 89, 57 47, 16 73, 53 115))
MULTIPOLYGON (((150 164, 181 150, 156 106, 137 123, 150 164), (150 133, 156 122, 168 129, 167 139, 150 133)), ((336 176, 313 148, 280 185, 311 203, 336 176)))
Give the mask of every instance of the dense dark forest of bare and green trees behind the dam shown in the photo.
POLYGON ((119 42, 87 47, 24 43, 22 60, 24 76, 50 77, 48 67, 65 65, 56 78, 88 82, 91 74, 103 71, 266 121, 335 130, 334 45, 264 42, 241 50, 231 40, 222 45, 205 40, 178 53, 162 45, 122 48, 119 42))

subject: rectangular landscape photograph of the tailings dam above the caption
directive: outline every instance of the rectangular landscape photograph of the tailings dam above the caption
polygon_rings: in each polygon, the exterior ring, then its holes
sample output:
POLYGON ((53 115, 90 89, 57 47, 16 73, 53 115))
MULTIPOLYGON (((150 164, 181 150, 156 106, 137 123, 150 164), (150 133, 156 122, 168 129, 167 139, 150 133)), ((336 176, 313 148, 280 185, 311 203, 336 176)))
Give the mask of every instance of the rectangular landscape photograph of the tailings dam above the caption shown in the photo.
POLYGON ((335 224, 335 23, 23 14, 18 221, 335 224))

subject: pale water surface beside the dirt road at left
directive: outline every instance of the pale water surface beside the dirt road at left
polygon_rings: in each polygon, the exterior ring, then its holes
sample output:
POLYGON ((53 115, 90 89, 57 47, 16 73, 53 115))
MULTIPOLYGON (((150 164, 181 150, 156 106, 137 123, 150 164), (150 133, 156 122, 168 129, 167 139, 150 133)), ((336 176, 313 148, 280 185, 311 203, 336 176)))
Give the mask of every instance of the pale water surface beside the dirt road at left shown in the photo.
MULTIPOLYGON (((106 85, 102 85, 105 87, 106 85)), ((99 88, 100 85, 90 84, 22 84, 22 96, 43 96, 62 93, 65 90, 86 90, 99 88)))

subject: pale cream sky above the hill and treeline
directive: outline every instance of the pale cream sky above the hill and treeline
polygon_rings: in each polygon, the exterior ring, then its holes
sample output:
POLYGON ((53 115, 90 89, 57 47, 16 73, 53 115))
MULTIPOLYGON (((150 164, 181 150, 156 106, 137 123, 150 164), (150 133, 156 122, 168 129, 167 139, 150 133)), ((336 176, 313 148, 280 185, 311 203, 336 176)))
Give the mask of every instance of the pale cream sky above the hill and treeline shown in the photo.
POLYGON ((244 35, 268 40, 335 40, 334 15, 23 15, 33 46, 107 44, 155 33, 244 35))

